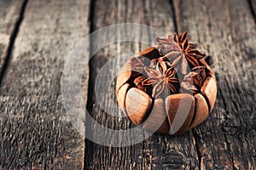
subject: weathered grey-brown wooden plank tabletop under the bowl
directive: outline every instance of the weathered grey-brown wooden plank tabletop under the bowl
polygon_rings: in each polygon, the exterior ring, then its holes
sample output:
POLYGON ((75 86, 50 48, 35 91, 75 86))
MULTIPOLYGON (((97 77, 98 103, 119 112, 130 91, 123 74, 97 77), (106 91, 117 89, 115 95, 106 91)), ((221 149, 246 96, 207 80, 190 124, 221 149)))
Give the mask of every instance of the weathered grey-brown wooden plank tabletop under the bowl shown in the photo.
MULTIPOLYGON (((0 16, 0 169, 256 167, 255 0, 1 0, 0 16), (167 34, 189 31, 191 41, 212 55, 218 97, 206 122, 183 136, 154 133, 114 148, 84 139, 67 121, 61 75, 68 52, 90 32, 123 22, 167 34)), ((143 48, 117 42, 90 61, 87 108, 97 122, 131 127, 128 120, 106 116, 92 89, 108 59, 143 48)))

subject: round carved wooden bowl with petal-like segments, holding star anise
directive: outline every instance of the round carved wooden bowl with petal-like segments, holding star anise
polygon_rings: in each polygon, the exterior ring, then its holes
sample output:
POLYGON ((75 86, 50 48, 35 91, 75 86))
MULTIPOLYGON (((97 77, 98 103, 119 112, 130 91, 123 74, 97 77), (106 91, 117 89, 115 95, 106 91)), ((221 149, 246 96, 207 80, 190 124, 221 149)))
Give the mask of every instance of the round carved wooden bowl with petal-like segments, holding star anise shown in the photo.
MULTIPOLYGON (((154 59, 159 55, 159 50, 151 47, 131 59, 139 56, 154 59)), ((180 135, 207 119, 216 100, 217 83, 204 59, 199 59, 199 64, 207 68, 200 93, 171 94, 165 99, 151 97, 132 84, 134 73, 131 59, 119 71, 116 82, 119 105, 131 122, 142 125, 145 130, 180 135)))

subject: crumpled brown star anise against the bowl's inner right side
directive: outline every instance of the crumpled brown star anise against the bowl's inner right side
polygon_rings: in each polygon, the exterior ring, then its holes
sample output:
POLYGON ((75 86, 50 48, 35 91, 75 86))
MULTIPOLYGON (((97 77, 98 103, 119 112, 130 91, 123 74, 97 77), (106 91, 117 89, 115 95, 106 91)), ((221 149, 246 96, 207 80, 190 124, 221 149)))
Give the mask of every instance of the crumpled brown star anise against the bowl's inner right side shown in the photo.
POLYGON ((199 93, 203 82, 206 79, 206 67, 196 66, 189 74, 187 74, 181 83, 181 90, 183 93, 192 92, 193 94, 199 93))

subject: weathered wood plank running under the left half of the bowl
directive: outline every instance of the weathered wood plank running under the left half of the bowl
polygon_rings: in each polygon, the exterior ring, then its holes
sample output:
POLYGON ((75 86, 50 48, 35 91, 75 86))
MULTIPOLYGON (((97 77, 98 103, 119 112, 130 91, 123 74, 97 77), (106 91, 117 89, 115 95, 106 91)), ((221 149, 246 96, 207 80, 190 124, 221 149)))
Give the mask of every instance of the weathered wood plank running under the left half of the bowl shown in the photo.
MULTIPOLYGON (((115 23, 135 22, 154 26, 166 33, 173 33, 172 7, 168 1, 96 1, 95 14, 93 18, 93 30, 109 26, 115 23)), ((149 32, 137 31, 137 35, 148 34, 149 32)), ((132 35, 134 36, 134 35, 132 35)), ((153 35, 154 37, 154 35, 153 35)), ((102 37, 104 38, 104 37, 102 37)), ((93 43, 93 42, 92 42, 93 43)), ((91 82, 90 95, 92 102, 89 105, 91 116, 96 122, 104 127, 112 129, 126 129, 133 127, 130 121, 125 118, 117 118, 102 111, 101 106, 93 94, 92 88, 95 86, 95 78, 109 59, 125 53, 138 53, 142 45, 136 42, 117 42, 99 51, 90 62, 91 82)), ((143 46, 143 48, 148 48, 143 46)), ((119 58, 113 62, 109 74, 113 75, 114 70, 118 70, 126 58, 119 58)), ((102 82, 109 82, 108 76, 102 82)), ((97 85, 97 84, 96 84, 97 85)), ((100 92, 99 94, 105 94, 100 92)), ((115 84, 111 83, 109 96, 104 100, 104 106, 113 111, 116 115, 122 114, 119 108, 113 107, 109 103, 110 96, 115 96, 115 84)), ((117 103, 116 103, 117 104, 117 103)), ((96 127, 86 127, 86 133, 98 132, 96 127)), ((105 133, 103 135, 106 135, 105 133)), ((107 134, 108 135, 108 134, 107 134)), ((149 139, 132 146, 114 148, 95 144, 90 140, 86 141, 85 168, 86 169, 197 169, 198 157, 195 148, 195 140, 192 133, 185 133, 181 137, 170 137, 155 133, 149 139)))

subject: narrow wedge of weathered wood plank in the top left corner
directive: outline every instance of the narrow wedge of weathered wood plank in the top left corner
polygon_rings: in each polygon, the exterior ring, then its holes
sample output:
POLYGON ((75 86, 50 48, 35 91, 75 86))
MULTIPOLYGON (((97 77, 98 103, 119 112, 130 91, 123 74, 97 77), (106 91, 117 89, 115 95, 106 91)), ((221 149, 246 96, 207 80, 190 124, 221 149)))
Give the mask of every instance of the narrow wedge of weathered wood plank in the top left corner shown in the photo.
MULTIPOLYGON (((0 1, 0 75, 7 62, 8 50, 15 37, 15 27, 25 1, 0 1)), ((0 77, 1 78, 1 77, 0 77)))

